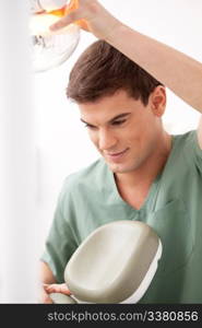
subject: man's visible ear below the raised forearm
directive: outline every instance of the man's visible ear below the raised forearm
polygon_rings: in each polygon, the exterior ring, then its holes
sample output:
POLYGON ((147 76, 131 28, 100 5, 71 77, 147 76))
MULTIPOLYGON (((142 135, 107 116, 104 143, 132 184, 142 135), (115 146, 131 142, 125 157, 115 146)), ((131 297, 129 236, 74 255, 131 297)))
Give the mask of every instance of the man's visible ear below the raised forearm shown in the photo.
POLYGON ((150 99, 152 112, 155 116, 162 117, 166 108, 166 89, 158 85, 151 93, 150 99))

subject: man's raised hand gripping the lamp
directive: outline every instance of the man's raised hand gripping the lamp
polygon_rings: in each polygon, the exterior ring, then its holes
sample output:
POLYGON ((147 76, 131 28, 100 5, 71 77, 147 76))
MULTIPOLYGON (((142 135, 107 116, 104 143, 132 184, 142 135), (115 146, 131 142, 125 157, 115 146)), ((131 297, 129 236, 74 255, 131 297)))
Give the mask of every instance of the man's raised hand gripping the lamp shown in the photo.
POLYGON ((72 0, 67 7, 66 16, 51 25, 50 31, 58 31, 71 23, 79 24, 83 30, 93 33, 100 39, 105 39, 115 28, 121 25, 96 0, 72 0))

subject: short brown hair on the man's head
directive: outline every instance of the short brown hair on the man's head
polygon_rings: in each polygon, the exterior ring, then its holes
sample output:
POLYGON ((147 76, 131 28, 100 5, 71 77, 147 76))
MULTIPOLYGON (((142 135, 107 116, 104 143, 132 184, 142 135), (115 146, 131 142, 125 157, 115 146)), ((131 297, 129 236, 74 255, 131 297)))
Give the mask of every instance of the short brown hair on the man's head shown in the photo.
POLYGON ((92 103, 122 89, 147 105, 150 94, 159 84, 163 85, 119 50, 98 40, 75 62, 67 96, 79 104, 92 103))

